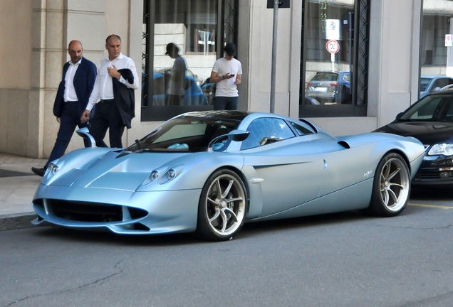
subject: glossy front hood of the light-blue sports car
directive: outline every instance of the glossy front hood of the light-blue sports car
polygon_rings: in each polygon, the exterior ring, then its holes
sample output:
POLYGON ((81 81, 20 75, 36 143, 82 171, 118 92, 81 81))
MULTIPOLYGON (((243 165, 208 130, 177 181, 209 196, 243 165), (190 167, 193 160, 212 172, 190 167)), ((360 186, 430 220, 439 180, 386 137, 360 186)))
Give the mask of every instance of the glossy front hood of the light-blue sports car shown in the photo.
MULTIPOLYGON (((90 150, 90 149, 87 149, 90 150)), ((152 171, 160 174, 170 168, 180 166, 187 153, 142 153, 120 154, 110 151, 108 154, 85 159, 87 155, 66 155, 56 162, 60 170, 46 173, 44 185, 63 185, 76 188, 106 188, 118 190, 136 190, 150 181, 152 171)))

